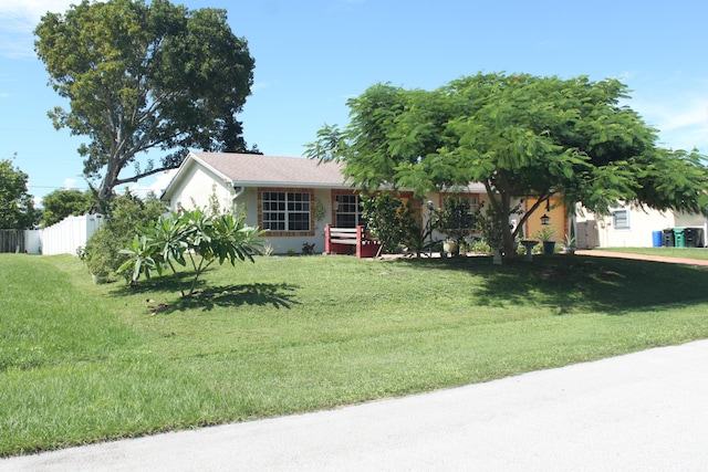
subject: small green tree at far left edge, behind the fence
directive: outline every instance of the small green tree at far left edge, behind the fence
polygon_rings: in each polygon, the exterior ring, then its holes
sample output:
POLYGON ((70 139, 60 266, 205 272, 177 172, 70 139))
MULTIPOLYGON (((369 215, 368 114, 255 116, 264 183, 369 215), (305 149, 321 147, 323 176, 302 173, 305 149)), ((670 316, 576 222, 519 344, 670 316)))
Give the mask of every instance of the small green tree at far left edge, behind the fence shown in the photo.
POLYGON ((27 190, 28 175, 15 168, 10 159, 0 160, 0 229, 25 230, 32 228, 39 212, 34 197, 27 190))

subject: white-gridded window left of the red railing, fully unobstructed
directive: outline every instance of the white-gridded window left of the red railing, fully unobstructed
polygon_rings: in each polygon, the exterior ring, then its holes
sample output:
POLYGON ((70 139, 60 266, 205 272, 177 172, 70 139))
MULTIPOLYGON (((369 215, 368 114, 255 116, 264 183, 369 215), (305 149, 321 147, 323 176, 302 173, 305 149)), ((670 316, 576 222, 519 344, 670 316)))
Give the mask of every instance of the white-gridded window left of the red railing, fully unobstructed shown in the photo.
POLYGON ((262 228, 270 231, 310 231, 311 195, 302 191, 263 191, 262 228))

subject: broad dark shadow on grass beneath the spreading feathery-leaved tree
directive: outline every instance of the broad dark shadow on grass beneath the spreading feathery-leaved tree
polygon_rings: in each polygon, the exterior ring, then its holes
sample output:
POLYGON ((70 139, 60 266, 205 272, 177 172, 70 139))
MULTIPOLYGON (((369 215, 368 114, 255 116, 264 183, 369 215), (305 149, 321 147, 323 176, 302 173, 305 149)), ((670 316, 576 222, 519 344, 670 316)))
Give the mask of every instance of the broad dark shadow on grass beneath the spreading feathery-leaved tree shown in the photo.
POLYGON ((552 307, 556 314, 690 306, 708 302, 708 268, 616 258, 551 255, 493 265, 491 258, 400 260, 418 268, 475 275, 476 303, 552 307))

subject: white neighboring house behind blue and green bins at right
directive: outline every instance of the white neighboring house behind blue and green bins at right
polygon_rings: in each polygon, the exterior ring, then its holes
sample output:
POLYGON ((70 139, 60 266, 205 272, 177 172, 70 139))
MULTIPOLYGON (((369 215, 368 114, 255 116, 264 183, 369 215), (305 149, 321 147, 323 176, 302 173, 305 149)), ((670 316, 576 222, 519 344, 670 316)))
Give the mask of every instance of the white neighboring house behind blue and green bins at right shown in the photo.
POLYGON ((657 245, 656 232, 675 228, 693 230, 696 238, 688 247, 706 245, 706 218, 700 214, 618 206, 608 216, 597 216, 579 207, 575 221, 579 248, 650 248, 657 245))

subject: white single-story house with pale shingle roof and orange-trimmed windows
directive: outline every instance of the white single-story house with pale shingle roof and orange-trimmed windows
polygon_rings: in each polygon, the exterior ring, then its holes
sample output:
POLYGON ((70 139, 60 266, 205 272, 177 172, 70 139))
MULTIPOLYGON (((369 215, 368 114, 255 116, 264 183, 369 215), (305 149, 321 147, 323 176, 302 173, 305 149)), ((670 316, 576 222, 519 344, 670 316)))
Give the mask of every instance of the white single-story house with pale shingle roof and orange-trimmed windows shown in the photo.
MULTIPOLYGON (((473 207, 486 196, 483 186, 465 190, 473 207)), ((404 200, 413 193, 404 192, 404 200)), ((160 197, 173 211, 208 208, 244 210, 246 222, 268 230, 275 253, 301 252, 304 243, 324 251, 324 228, 364 223, 358 191, 344 181, 342 166, 301 157, 252 154, 189 153, 160 197)), ((426 201, 442 204, 444 195, 416 201, 423 218, 426 201)))

